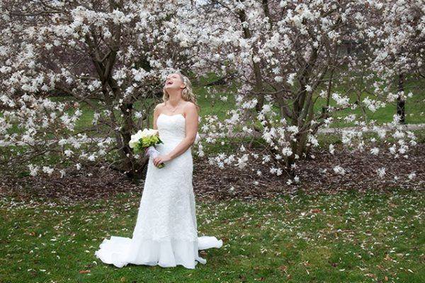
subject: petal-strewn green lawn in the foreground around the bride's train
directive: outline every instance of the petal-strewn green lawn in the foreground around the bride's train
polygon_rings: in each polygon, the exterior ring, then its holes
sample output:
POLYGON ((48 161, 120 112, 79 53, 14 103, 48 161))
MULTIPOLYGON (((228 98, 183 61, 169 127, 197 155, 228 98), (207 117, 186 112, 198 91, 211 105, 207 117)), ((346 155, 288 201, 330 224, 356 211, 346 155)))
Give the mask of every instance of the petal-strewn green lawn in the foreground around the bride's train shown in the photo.
POLYGON ((341 192, 197 202, 199 235, 224 240, 196 270, 94 256, 132 235, 140 195, 0 204, 0 282, 425 282, 425 194, 341 192), (90 270, 81 274, 81 270, 90 270))

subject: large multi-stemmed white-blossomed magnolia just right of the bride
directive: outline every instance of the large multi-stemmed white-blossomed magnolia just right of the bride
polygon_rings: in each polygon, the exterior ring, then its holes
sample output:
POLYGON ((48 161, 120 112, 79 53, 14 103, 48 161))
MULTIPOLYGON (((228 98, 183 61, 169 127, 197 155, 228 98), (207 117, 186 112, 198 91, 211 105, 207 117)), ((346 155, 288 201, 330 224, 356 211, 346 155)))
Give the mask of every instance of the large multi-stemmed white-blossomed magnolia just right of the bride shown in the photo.
MULTIPOLYGON (((211 54, 206 58, 210 66, 236 74, 240 87, 228 119, 206 117, 206 141, 215 143, 234 132, 251 142, 251 137, 264 141, 262 156, 242 145, 237 153, 211 156, 210 162, 220 168, 246 168, 261 158, 271 173, 293 173, 295 161, 319 144, 319 129, 335 121, 358 126, 340 132, 343 144, 361 151, 369 147, 371 154, 378 154, 377 139, 363 133, 390 137, 365 115, 365 110, 386 105, 375 93, 380 88, 368 89, 376 81, 368 67, 377 48, 369 24, 382 6, 379 1, 207 1, 203 9, 208 13, 200 14, 210 32, 199 37, 199 44, 211 54)), ((397 121, 393 126, 398 127, 397 121)), ((407 141, 415 144, 414 134, 399 128, 394 138, 403 144, 403 153, 407 141)), ((330 144, 329 151, 334 150, 330 144)), ((338 167, 334 171, 343 173, 338 167)))

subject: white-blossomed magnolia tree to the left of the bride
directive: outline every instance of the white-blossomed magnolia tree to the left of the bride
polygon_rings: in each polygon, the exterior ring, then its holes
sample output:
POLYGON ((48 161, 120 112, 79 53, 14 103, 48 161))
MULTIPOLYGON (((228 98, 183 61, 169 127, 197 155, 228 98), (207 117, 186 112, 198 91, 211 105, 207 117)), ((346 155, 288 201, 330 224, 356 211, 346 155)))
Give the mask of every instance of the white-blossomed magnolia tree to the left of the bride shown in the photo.
POLYGON ((55 162, 48 160, 62 156, 55 165, 62 175, 69 164, 107 159, 137 174, 142 158, 128 141, 152 124, 149 110, 162 96, 164 76, 199 67, 192 39, 181 33, 191 1, 0 3, 2 170, 51 174, 55 162), (91 127, 80 127, 90 113, 91 127))

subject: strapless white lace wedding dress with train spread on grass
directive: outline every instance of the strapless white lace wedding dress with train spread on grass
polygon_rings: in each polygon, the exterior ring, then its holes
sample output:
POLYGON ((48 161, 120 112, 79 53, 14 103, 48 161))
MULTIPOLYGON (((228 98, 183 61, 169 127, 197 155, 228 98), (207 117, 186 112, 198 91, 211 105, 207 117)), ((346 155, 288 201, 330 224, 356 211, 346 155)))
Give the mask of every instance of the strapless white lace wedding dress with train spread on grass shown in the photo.
MULTIPOLYGON (((166 154, 185 137, 186 118, 182 114, 160 114, 157 127, 164 144, 156 148, 166 154)), ((157 168, 149 158, 132 238, 104 239, 95 253, 97 258, 116 267, 131 263, 193 269, 198 262, 207 262, 199 257, 198 250, 222 246, 222 240, 214 236, 198 237, 191 147, 164 164, 157 168)))

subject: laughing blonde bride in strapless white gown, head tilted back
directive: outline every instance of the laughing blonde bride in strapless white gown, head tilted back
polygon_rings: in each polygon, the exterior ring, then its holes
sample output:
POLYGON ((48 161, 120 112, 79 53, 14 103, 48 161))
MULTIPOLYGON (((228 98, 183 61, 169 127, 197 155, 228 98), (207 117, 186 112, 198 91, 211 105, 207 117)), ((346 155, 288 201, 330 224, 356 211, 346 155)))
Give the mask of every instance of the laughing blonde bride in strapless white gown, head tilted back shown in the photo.
POLYGON ((154 129, 163 144, 156 145, 159 156, 149 158, 132 238, 106 238, 95 253, 116 267, 131 263, 193 269, 207 262, 198 250, 222 246, 214 236, 198 237, 191 154, 198 105, 191 82, 180 73, 170 74, 163 93, 164 103, 154 109, 154 129), (165 166, 158 168, 161 163, 165 166))

